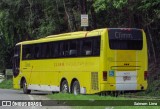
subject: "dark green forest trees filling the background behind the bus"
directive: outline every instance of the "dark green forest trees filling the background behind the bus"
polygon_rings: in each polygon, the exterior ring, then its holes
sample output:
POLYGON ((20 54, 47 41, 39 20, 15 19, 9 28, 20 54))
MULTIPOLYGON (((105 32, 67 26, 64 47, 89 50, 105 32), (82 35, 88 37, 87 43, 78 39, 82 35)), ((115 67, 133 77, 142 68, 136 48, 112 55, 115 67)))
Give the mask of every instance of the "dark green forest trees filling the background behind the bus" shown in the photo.
MULTIPOLYGON (((159 0, 83 0, 89 30, 104 27, 143 28, 149 56, 160 52, 159 0)), ((0 62, 11 66, 14 45, 51 34, 82 30, 82 0, 0 0, 0 62)), ((151 59, 153 60, 153 59, 151 59)))

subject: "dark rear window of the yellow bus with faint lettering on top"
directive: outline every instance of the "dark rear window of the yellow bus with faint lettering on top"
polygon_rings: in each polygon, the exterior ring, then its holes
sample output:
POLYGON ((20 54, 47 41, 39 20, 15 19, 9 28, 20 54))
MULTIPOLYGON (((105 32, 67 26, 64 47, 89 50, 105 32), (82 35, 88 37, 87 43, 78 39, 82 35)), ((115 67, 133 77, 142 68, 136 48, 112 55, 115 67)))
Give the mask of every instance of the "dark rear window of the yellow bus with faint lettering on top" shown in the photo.
POLYGON ((142 31, 138 29, 109 29, 109 47, 114 50, 141 50, 142 31))

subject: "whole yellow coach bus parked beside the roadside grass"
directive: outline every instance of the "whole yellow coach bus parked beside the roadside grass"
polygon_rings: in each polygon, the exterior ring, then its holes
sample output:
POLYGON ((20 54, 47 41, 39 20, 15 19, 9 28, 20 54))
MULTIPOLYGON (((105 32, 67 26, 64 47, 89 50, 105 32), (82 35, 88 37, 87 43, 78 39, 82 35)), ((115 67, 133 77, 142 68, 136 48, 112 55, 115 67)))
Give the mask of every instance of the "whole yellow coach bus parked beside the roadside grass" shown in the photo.
POLYGON ((13 86, 25 94, 146 90, 147 69, 142 29, 71 32, 16 44, 13 86))

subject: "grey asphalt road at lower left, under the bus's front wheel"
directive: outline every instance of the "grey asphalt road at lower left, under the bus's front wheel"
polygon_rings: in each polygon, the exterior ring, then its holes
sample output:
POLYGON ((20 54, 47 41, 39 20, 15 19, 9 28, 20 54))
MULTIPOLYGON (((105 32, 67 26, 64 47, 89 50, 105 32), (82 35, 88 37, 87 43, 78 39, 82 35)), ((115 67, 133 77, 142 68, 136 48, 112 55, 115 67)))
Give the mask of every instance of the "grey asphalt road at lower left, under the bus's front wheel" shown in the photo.
MULTIPOLYGON (((46 95, 49 92, 32 92, 31 94, 23 94, 22 90, 0 89, 0 102, 4 100, 49 100, 46 95)), ((70 109, 69 106, 0 106, 0 109, 70 109)))

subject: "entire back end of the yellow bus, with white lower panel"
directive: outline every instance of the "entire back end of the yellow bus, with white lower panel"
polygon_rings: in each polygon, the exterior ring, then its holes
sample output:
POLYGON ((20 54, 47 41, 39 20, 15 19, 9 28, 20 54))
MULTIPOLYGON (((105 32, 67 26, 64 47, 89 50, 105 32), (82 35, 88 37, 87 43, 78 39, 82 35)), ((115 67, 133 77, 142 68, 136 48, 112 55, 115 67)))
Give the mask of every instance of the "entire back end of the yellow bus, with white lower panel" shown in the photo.
POLYGON ((101 90, 146 90, 148 56, 144 31, 109 28, 105 38, 101 90))

